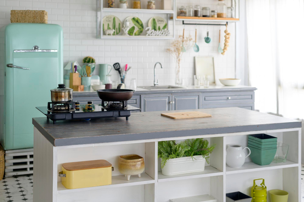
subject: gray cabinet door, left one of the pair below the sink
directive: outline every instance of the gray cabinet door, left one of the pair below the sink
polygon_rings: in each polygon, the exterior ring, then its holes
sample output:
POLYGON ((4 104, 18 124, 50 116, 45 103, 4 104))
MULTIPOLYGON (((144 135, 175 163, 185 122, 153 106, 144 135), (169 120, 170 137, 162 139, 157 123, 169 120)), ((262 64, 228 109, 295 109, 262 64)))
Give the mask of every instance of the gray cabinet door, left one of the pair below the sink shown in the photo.
POLYGON ((171 94, 141 95, 141 111, 168 111, 171 110, 171 94))

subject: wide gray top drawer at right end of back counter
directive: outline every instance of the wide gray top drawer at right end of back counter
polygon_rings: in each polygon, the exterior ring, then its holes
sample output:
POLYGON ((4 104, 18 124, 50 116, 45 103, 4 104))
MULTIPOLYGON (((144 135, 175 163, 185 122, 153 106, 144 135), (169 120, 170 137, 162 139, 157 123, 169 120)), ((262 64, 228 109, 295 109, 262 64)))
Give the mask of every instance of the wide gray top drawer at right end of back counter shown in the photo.
POLYGON ((205 104, 231 104, 231 103, 253 103, 254 92, 224 92, 224 93, 202 93, 202 105, 205 104))

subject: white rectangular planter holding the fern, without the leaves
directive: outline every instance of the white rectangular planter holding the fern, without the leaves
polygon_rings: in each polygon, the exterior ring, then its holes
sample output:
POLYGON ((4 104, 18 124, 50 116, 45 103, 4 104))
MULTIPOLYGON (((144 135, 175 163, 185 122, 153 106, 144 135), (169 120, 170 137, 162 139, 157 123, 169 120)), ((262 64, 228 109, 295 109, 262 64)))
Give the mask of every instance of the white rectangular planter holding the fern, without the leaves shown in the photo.
POLYGON ((161 169, 163 175, 180 175, 186 173, 196 173, 205 170, 206 159, 199 156, 181 157, 176 159, 168 159, 164 168, 161 169))

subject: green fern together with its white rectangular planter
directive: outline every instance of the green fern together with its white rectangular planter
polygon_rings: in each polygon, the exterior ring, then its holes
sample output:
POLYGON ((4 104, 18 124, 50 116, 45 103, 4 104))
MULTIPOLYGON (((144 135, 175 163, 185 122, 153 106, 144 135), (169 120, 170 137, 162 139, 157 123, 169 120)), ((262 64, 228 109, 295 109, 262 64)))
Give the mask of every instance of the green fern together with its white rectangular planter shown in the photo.
POLYGON ((205 162, 210 163, 209 154, 216 145, 209 146, 203 138, 158 142, 158 158, 161 158, 163 175, 196 173, 205 170, 205 162))

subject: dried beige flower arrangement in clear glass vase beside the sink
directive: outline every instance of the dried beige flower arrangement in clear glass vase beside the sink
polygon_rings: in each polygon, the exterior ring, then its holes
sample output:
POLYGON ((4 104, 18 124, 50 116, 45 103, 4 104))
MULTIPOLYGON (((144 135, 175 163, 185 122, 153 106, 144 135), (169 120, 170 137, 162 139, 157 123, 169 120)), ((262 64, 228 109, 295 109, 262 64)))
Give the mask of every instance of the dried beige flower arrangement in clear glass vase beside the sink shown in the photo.
POLYGON ((175 84, 181 85, 181 57, 183 55, 182 46, 185 47, 186 50, 192 48, 194 45, 192 36, 189 35, 183 39, 182 35, 178 36, 178 39, 175 39, 171 43, 171 47, 166 51, 170 53, 176 60, 176 69, 175 69, 175 84))

